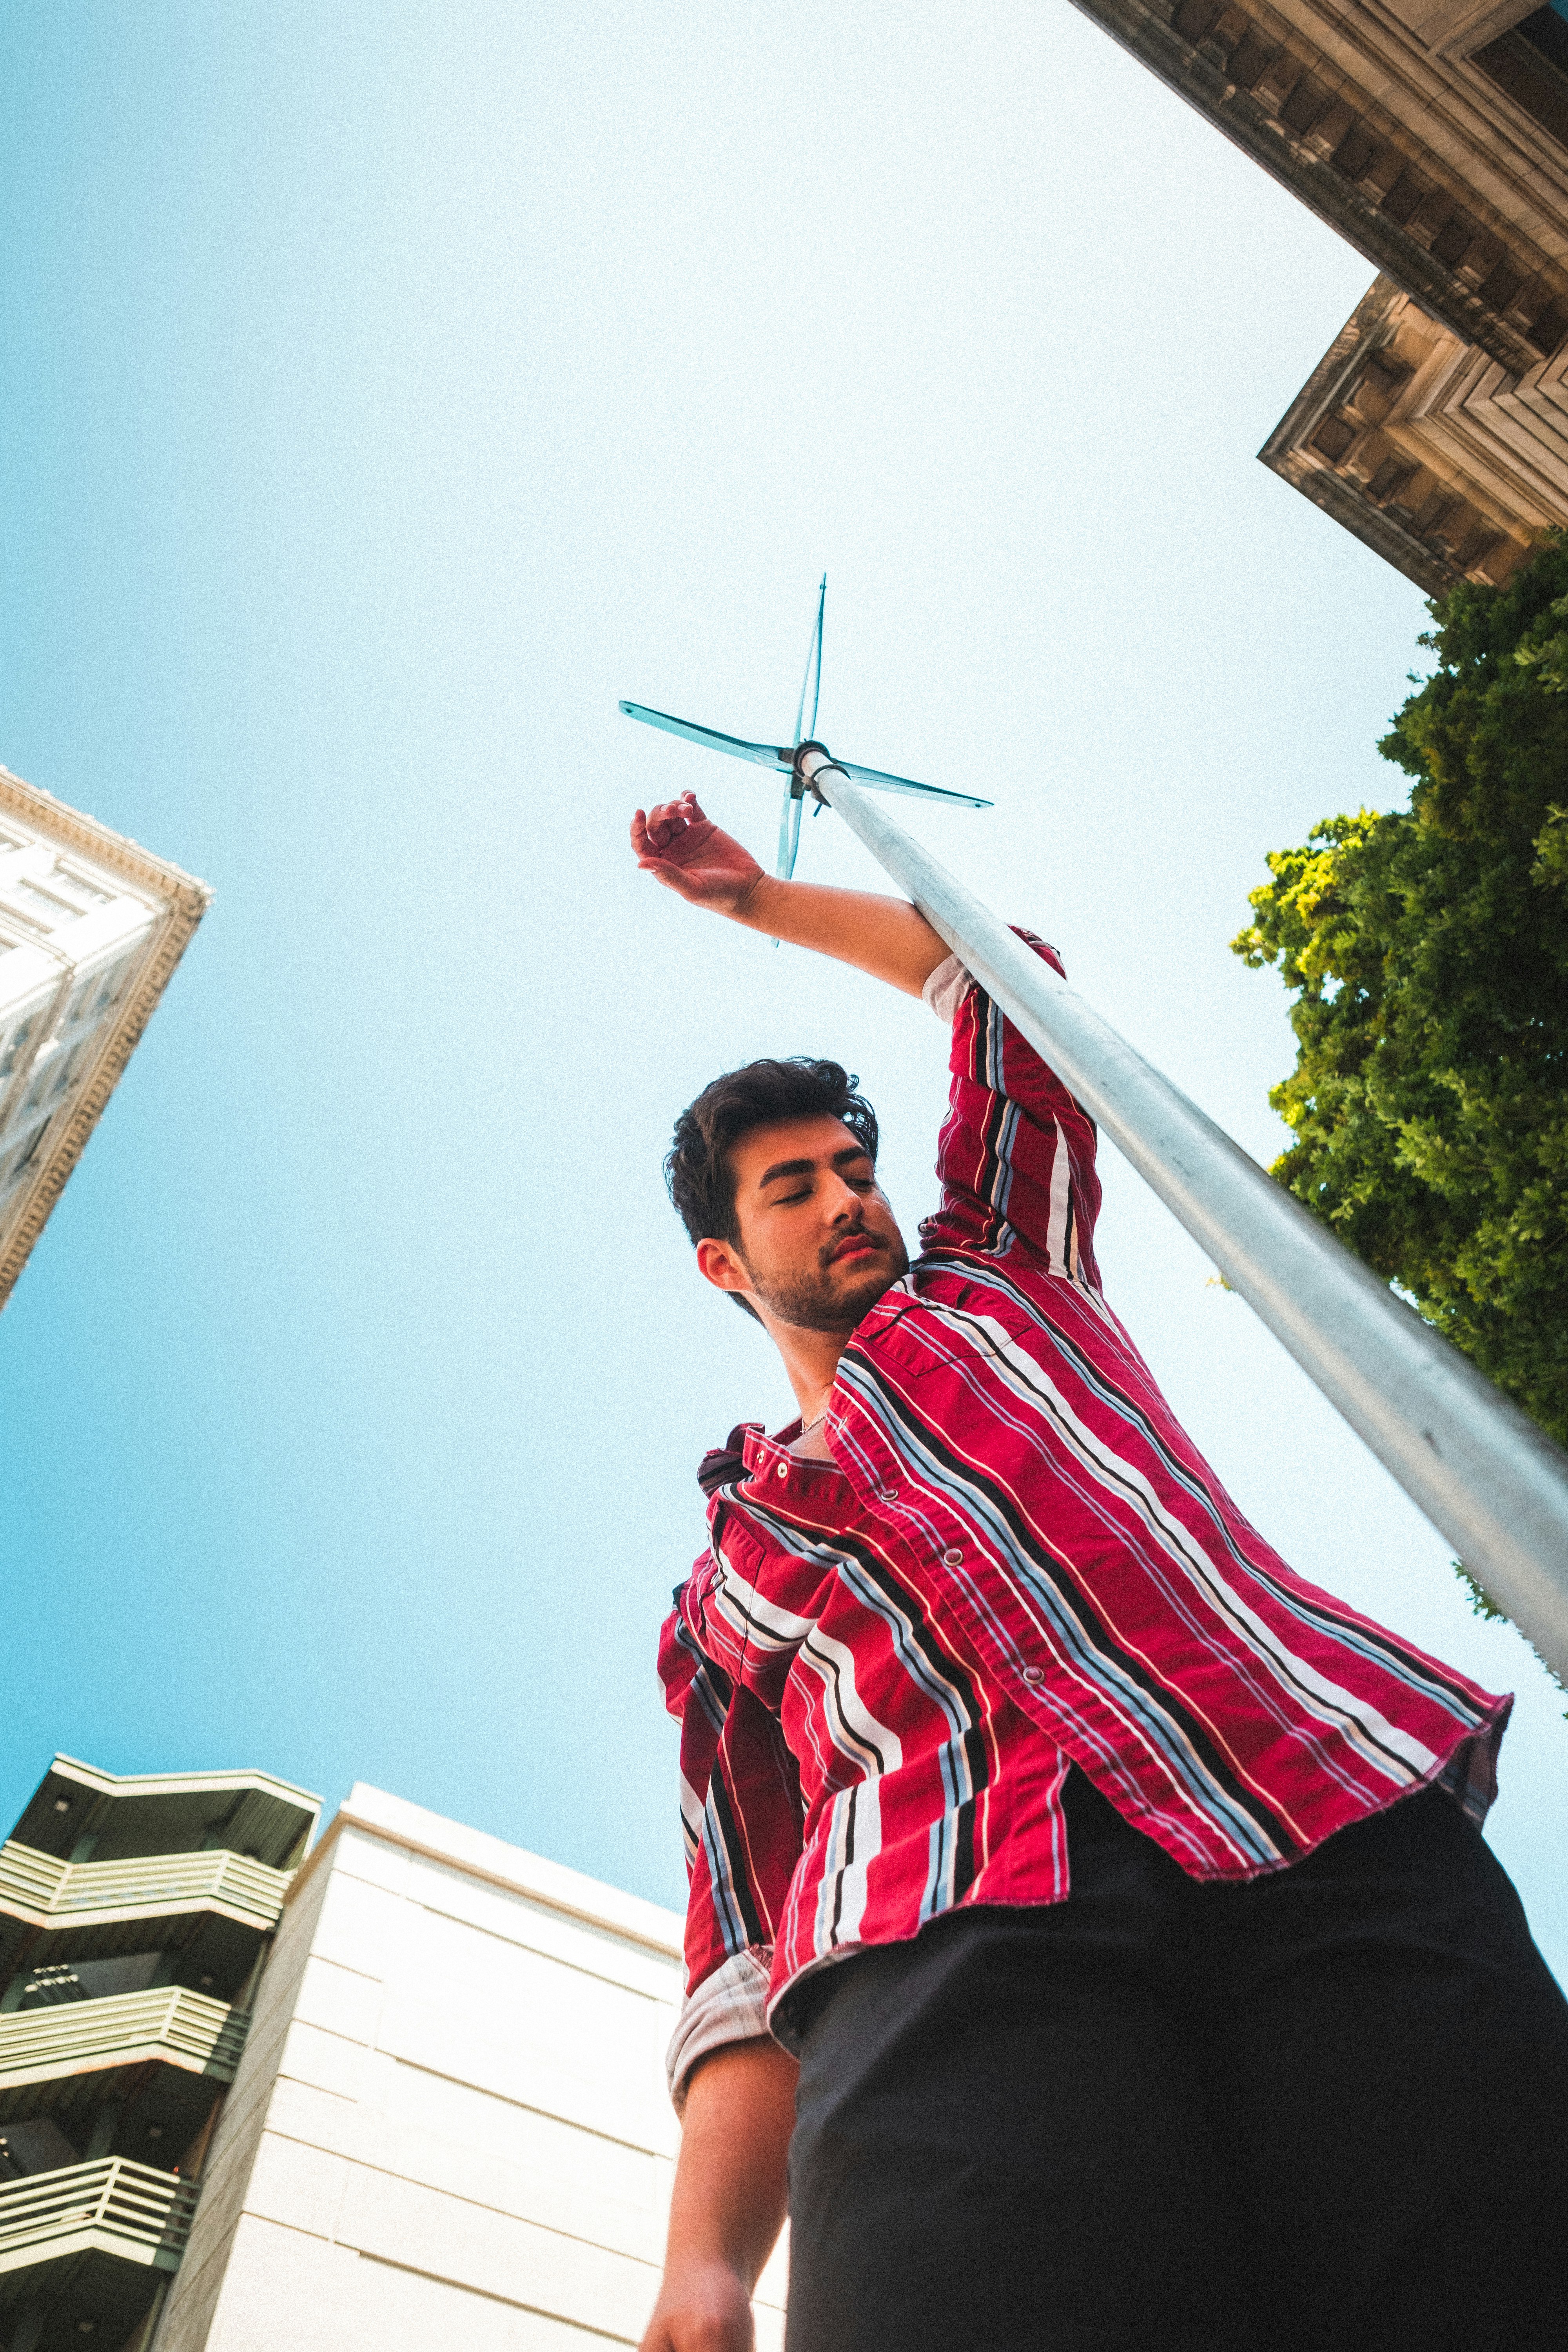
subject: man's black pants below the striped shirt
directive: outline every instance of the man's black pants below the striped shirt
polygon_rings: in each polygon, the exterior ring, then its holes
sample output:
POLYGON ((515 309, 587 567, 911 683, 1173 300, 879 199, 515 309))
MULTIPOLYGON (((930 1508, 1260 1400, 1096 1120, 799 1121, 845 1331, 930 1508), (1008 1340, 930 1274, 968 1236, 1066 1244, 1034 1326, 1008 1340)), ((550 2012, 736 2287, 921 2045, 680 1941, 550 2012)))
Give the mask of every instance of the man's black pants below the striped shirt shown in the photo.
POLYGON ((790 2352, 1566 2352, 1568 2004, 1453 1799, 1234 1886, 1074 1771, 1067 1844, 799 1987, 790 2352))

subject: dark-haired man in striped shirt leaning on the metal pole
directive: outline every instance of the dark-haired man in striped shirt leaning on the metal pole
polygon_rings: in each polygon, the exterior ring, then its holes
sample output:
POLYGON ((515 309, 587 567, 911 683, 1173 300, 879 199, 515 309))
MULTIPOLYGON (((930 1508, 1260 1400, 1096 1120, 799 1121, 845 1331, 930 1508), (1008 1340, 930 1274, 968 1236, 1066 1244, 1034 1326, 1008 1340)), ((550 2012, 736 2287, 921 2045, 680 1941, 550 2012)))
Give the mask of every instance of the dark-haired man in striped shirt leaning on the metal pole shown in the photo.
POLYGON ((644 2352, 745 2352, 785 2204, 792 2352, 1566 2345, 1568 2006, 1479 1835, 1509 1703, 1241 1517, 1100 1296, 1088 1117, 914 908, 691 795, 632 847, 952 1023, 914 1265, 837 1063, 717 1080, 668 1162, 799 1421, 703 1465, 661 1649, 644 2352))

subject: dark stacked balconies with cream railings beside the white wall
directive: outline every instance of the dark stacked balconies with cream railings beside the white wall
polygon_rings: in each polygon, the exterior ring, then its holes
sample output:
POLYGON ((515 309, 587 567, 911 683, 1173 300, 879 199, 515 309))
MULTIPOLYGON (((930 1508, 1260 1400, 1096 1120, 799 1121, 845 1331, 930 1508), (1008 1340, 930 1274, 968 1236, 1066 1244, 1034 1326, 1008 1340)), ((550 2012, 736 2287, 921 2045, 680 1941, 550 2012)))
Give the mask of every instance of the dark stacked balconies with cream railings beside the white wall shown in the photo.
POLYGON ((143 2352, 317 1802, 56 1757, 0 1849, 0 2345, 143 2352))

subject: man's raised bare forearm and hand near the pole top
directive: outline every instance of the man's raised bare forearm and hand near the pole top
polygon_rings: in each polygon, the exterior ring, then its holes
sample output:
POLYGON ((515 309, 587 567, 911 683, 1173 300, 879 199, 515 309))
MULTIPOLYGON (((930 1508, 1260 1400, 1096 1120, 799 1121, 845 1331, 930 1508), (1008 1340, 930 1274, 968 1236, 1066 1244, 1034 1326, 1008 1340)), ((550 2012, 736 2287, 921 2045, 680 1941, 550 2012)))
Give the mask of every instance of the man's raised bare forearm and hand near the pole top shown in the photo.
POLYGON ((644 873, 691 906, 729 915, 748 931, 816 948, 875 981, 917 997, 947 957, 924 915, 907 898, 867 889, 827 889, 823 882, 778 882, 750 849, 703 816, 696 793, 665 800, 632 818, 632 849, 644 873))

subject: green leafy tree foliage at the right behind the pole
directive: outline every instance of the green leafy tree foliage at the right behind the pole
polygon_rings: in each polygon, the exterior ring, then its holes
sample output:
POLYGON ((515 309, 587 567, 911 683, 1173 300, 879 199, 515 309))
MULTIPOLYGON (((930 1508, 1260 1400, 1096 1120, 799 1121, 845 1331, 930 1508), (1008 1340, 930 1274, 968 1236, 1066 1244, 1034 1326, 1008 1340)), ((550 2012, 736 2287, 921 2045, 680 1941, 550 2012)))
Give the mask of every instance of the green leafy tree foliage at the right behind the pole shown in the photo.
POLYGON ((1232 946, 1295 993, 1274 1174, 1568 1442, 1568 541, 1432 614, 1410 807, 1274 851, 1232 946))

